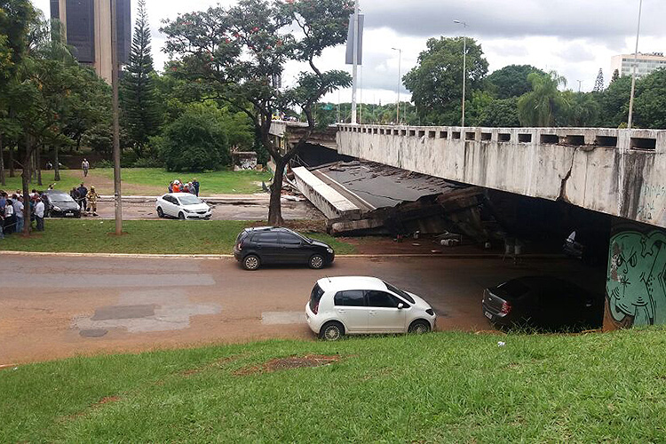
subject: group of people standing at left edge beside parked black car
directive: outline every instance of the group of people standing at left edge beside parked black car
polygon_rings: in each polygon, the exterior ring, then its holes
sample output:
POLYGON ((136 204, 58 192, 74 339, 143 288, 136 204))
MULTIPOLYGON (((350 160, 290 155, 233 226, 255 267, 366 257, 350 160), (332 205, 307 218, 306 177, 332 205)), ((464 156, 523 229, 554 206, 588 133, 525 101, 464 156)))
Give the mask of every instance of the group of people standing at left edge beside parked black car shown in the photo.
MULTIPOLYGON (((28 194, 29 222, 36 222, 37 231, 44 231, 44 196, 37 190, 28 194)), ((4 190, 0 190, 0 239, 5 234, 21 233, 25 226, 25 199, 20 190, 10 196, 4 190)))

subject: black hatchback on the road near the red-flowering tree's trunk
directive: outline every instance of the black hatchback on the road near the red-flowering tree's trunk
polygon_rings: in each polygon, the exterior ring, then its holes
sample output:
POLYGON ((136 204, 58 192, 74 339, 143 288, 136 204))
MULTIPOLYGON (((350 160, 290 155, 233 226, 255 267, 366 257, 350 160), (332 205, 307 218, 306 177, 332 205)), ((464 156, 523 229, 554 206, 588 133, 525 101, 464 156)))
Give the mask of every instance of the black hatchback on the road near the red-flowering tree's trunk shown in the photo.
POLYGON ((265 264, 303 264, 320 269, 329 266, 335 257, 326 243, 273 226, 246 228, 234 245, 234 258, 246 270, 257 270, 265 264))

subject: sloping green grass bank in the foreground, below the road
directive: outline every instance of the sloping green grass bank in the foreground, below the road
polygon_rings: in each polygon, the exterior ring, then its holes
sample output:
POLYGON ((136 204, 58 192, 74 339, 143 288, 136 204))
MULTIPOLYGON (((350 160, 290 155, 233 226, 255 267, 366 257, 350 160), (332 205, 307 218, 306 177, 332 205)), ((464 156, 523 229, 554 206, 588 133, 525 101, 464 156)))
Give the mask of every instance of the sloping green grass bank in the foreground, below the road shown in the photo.
POLYGON ((0 371, 0 441, 664 442, 664 333, 271 341, 27 365, 0 371), (310 354, 341 360, 247 371, 310 354))

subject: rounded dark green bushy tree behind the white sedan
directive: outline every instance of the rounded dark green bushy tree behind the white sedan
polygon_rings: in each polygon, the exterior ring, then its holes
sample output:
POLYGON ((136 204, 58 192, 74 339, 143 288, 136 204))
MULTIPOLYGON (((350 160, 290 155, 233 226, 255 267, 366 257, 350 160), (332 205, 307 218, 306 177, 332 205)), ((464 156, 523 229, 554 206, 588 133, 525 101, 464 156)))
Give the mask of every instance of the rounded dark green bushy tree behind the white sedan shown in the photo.
POLYGON ((153 140, 170 171, 215 170, 231 159, 218 112, 207 107, 190 107, 153 140))

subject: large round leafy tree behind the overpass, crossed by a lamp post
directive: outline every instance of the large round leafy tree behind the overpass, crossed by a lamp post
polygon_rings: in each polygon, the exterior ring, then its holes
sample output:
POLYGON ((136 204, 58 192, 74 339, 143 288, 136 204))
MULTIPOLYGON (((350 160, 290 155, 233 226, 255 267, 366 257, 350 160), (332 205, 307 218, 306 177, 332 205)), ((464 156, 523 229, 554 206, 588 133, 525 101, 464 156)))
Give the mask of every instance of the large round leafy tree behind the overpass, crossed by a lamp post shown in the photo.
MULTIPOLYGON (((427 49, 418 56, 418 65, 403 77, 412 93, 418 115, 424 123, 456 125, 460 123, 463 100, 463 37, 428 40, 427 49)), ((483 88, 488 61, 480 44, 467 39, 468 97, 483 88)))

